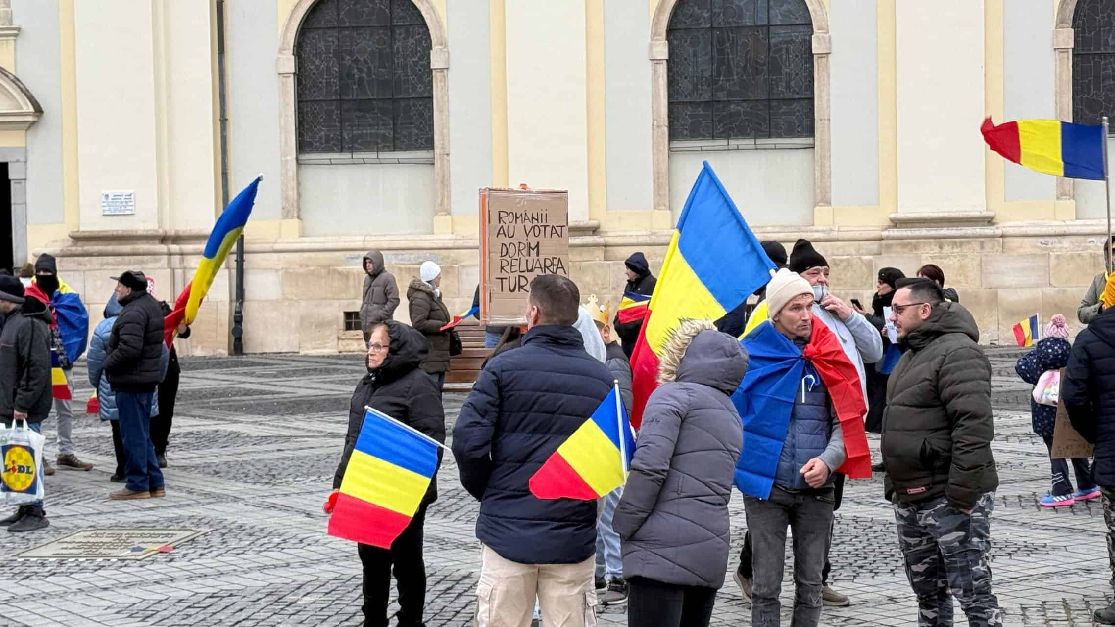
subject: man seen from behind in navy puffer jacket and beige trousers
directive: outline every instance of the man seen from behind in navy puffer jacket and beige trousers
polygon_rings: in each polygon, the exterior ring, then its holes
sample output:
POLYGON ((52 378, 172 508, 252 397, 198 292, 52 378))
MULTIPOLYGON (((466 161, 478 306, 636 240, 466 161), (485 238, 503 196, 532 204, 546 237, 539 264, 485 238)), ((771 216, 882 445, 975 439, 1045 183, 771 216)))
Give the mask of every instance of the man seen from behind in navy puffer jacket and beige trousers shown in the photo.
POLYGON ((527 485, 612 388, 572 326, 579 301, 564 277, 531 282, 522 348, 492 358, 453 431, 460 482, 481 501, 478 627, 526 625, 535 595, 546 625, 583 627, 595 605, 597 502, 543 501, 527 485))

